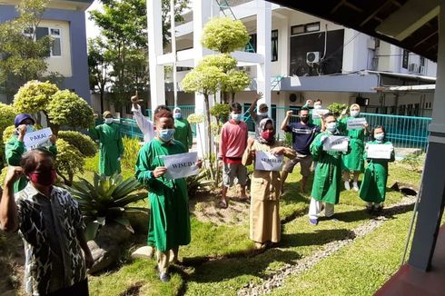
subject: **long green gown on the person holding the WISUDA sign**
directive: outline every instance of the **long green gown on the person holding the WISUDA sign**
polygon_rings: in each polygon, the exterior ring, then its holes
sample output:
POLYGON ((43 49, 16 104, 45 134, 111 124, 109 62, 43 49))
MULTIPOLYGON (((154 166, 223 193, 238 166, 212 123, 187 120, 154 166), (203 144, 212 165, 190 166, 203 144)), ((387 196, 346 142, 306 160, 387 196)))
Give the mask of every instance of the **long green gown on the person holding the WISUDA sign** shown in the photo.
POLYGON ((153 170, 163 166, 163 155, 185 153, 182 143, 163 143, 154 138, 139 151, 135 176, 147 186, 152 206, 148 244, 160 252, 190 243, 190 213, 185 179, 154 178, 153 170), (151 242, 153 240, 153 242, 151 242))

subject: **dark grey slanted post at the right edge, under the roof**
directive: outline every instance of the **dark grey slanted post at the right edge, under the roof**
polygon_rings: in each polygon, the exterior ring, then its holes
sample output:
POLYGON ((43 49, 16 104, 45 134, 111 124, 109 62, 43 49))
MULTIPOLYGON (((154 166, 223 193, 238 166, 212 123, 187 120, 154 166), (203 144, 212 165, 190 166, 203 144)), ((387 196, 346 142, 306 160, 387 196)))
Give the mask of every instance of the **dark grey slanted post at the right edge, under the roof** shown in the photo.
POLYGON ((445 200, 445 0, 440 1, 439 50, 434 109, 430 138, 420 190, 419 216, 416 223, 409 264, 428 271, 436 246, 445 200))

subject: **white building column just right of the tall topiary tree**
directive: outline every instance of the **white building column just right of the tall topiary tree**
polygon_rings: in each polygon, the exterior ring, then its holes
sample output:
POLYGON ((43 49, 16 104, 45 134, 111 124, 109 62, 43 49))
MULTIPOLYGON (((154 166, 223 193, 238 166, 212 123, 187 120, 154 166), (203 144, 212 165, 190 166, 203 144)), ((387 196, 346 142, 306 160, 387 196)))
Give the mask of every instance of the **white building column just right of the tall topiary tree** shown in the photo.
MULTIPOLYGON (((256 32, 257 32, 257 54, 262 54, 262 64, 257 64, 257 89, 258 92, 262 92, 262 100, 258 101, 258 104, 265 103, 271 107, 271 73, 272 73, 272 44, 271 44, 271 31, 272 31, 272 6, 271 3, 256 0, 256 7, 258 9, 256 19, 256 32)), ((269 108, 269 116, 271 116, 272 108, 269 108)))

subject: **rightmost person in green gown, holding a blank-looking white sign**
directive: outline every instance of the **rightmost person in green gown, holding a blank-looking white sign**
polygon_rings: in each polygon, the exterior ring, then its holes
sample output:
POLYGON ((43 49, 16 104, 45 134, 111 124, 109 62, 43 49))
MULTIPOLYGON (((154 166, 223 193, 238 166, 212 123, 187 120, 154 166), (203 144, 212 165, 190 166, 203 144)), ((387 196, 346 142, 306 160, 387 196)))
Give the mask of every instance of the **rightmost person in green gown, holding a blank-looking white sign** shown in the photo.
MULTIPOLYGON (((390 141, 385 138, 385 128, 381 125, 376 126, 371 133, 372 141, 366 143, 363 158, 368 162, 363 182, 360 188, 360 198, 366 202, 367 212, 381 212, 382 202, 385 201, 386 183, 388 181, 388 163, 394 162, 394 147, 390 141), (371 145, 389 146, 390 157, 371 158, 371 145)), ((377 155, 376 155, 377 156, 377 155)), ((377 156, 377 157, 386 157, 377 156)))

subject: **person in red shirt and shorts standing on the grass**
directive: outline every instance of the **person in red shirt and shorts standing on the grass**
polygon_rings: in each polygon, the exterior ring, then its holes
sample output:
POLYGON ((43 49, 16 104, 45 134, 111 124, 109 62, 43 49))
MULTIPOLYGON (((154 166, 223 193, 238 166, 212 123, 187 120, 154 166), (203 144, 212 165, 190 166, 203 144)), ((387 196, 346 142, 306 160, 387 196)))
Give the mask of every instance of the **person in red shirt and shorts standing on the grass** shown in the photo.
POLYGON ((235 177, 241 186, 240 200, 248 202, 246 195, 247 168, 242 165, 242 154, 247 145, 247 124, 242 121, 242 107, 239 103, 231 105, 231 119, 224 123, 218 153, 220 166, 223 166, 223 190, 220 207, 228 206, 227 190, 232 187, 235 177))

